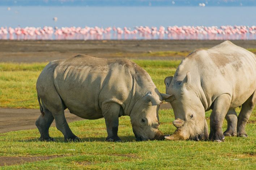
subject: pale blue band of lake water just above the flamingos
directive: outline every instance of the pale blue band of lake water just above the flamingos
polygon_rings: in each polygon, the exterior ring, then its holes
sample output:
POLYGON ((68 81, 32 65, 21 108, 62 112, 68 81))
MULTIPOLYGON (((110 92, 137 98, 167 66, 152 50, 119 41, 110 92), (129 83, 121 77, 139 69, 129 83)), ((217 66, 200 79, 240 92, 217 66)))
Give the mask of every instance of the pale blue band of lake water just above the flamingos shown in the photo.
POLYGON ((183 26, 256 25, 256 7, 70 7, 0 6, 0 26, 183 26), (57 22, 52 18, 57 17, 57 22))

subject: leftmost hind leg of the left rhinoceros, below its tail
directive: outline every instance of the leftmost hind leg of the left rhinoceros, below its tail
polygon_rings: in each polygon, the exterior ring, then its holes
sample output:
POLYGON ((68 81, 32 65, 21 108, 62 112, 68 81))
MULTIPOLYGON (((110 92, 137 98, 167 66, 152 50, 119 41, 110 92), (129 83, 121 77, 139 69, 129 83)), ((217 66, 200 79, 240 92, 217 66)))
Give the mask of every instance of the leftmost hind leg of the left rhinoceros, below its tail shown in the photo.
POLYGON ((41 135, 39 138, 40 141, 55 141, 54 138, 49 136, 49 128, 53 120, 54 117, 52 116, 52 113, 44 108, 44 116, 40 115, 35 122, 35 125, 37 126, 41 135))

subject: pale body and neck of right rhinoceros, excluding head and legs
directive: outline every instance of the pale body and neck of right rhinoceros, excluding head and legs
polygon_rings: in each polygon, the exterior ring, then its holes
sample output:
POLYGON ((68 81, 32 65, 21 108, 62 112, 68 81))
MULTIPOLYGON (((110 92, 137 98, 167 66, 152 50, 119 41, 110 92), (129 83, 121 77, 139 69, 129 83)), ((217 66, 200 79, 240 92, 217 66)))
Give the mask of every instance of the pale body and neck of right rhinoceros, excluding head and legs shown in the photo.
POLYGON ((231 96, 231 108, 243 104, 256 89, 256 55, 225 41, 189 54, 175 72, 172 86, 191 73, 191 84, 210 109, 221 94, 231 96))

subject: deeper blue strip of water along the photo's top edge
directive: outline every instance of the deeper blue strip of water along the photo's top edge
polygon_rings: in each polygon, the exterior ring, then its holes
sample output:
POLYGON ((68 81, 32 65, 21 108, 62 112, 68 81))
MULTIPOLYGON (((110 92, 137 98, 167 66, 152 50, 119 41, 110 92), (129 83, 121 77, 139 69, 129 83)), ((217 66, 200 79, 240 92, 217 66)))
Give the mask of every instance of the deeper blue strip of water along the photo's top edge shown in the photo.
POLYGON ((202 0, 1 0, 0 6, 256 6, 256 1, 202 0))

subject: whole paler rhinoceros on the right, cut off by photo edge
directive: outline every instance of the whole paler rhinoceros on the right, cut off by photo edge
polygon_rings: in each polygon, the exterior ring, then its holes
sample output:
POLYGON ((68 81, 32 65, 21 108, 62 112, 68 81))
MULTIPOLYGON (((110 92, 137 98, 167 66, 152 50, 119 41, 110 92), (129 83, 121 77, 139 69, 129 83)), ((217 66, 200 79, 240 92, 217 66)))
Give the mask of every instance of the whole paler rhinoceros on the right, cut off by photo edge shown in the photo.
POLYGON ((223 141, 224 136, 247 137, 245 126, 256 103, 256 55, 225 41, 196 50, 166 77, 166 101, 174 109, 175 133, 168 140, 223 141), (235 108, 242 105, 239 117, 235 108), (210 115, 210 135, 205 111, 210 115), (222 132, 223 120, 227 130, 222 132))

